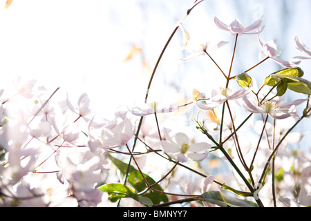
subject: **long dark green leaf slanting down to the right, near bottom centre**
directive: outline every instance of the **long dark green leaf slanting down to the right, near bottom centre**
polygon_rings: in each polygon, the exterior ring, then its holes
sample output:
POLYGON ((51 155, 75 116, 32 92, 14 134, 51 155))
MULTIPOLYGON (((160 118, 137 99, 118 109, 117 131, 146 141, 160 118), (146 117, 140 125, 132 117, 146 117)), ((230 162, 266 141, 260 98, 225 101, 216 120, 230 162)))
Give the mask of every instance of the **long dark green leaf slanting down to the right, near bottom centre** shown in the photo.
MULTIPOLYGON (((109 155, 109 158, 111 159, 111 162, 113 162, 113 164, 117 166, 122 175, 125 175, 128 164, 122 162, 121 160, 118 160, 115 157, 112 157, 111 155, 109 155)), ((144 177, 150 185, 156 183, 151 177, 149 177, 149 175, 144 174, 144 177)), ((131 186, 133 186, 136 191, 138 191, 138 193, 147 189, 147 185, 145 184, 144 179, 140 174, 140 171, 135 169, 133 166, 130 166, 129 169, 128 182, 131 184, 131 186)), ((159 184, 153 186, 153 189, 163 191, 159 184)), ((153 204, 160 204, 161 202, 169 201, 169 198, 167 198, 166 194, 159 193, 158 191, 149 191, 148 193, 144 194, 144 197, 149 198, 153 204)))

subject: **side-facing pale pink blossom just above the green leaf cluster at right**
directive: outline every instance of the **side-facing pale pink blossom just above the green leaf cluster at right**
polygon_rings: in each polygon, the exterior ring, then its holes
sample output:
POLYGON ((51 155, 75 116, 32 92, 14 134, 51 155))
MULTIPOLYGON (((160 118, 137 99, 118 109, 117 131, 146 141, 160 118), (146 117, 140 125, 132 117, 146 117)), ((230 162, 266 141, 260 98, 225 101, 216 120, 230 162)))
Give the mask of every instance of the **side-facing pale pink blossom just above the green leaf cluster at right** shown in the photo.
POLYGON ((263 60, 269 57, 269 59, 275 61, 277 64, 285 68, 295 68, 296 66, 300 64, 301 61, 296 61, 294 59, 292 59, 292 61, 285 61, 282 59, 275 58, 276 56, 279 56, 280 54, 280 51, 277 49, 277 46, 276 46, 276 43, 277 43, 276 39, 268 41, 267 43, 263 44, 263 41, 261 41, 261 38, 258 35, 258 41, 259 41, 259 44, 261 44, 261 48, 263 48, 263 50, 259 52, 259 57, 258 57, 259 59, 263 60))

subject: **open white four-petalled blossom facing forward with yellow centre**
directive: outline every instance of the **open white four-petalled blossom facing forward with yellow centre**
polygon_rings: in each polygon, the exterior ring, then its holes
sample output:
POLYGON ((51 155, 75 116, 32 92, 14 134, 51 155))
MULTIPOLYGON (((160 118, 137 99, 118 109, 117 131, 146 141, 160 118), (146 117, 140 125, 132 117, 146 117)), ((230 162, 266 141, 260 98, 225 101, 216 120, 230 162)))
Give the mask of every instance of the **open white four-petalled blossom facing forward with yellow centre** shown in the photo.
POLYGON ((207 150, 211 148, 211 144, 205 142, 191 144, 189 137, 185 133, 176 133, 174 140, 169 135, 166 135, 166 137, 167 140, 161 141, 164 152, 179 162, 187 162, 188 158, 200 161, 209 155, 207 150))

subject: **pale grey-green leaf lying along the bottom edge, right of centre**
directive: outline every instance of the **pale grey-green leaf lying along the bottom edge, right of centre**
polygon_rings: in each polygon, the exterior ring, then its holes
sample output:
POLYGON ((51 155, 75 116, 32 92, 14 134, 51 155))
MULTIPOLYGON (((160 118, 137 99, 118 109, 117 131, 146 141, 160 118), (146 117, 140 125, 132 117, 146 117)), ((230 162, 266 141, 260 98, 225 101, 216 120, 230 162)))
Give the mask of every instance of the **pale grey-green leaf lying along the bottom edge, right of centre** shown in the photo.
POLYGON ((221 207, 258 207, 258 205, 254 202, 234 198, 232 196, 220 193, 220 191, 207 191, 201 196, 205 201, 221 207))

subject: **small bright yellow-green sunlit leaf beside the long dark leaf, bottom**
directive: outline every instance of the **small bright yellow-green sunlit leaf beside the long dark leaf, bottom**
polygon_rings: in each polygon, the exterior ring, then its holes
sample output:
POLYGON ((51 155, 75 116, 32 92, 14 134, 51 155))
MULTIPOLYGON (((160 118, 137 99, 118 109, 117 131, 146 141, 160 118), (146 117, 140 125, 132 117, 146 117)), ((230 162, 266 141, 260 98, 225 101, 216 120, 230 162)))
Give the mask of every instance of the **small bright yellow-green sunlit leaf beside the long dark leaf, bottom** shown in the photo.
POLYGON ((130 186, 125 186, 124 184, 104 184, 97 189, 107 192, 111 202, 117 202, 120 198, 133 198, 134 200, 139 201, 138 193, 135 189, 130 186))

